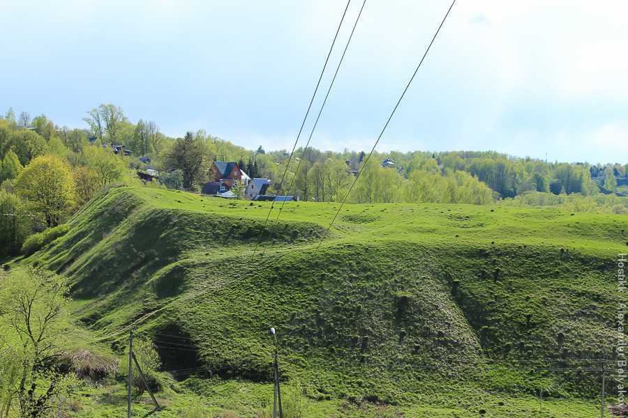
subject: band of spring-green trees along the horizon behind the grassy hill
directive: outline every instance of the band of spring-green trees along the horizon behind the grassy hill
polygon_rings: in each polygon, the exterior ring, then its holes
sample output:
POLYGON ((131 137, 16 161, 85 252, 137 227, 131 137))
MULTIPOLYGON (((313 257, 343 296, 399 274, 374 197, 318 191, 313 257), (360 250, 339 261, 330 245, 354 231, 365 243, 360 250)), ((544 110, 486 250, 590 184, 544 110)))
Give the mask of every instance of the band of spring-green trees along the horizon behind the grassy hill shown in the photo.
MULTIPOLYGON (((247 149, 204 130, 167 137, 156 122, 132 123, 114 104, 89 109, 83 120, 84 127, 70 128, 43 114, 16 116, 13 109, 0 117, 0 252, 17 254, 29 234, 65 222, 112 183, 198 192, 213 180, 216 160, 238 162, 251 178, 269 178, 271 194, 317 202, 346 197, 353 203, 487 204, 510 199, 532 205, 557 201, 546 195, 577 195, 606 210, 612 199, 599 196, 600 187, 628 192, 618 185, 625 183, 628 164, 546 162, 491 151, 375 152, 366 164, 364 152, 315 148, 299 148, 289 164, 286 150, 247 149), (125 146, 130 156, 122 148, 114 153, 112 146, 125 146), (159 181, 137 178, 137 170, 145 169, 158 170, 159 181)), ((625 208, 624 202, 618 204, 625 208)), ((617 204, 610 207, 622 212, 617 204)))

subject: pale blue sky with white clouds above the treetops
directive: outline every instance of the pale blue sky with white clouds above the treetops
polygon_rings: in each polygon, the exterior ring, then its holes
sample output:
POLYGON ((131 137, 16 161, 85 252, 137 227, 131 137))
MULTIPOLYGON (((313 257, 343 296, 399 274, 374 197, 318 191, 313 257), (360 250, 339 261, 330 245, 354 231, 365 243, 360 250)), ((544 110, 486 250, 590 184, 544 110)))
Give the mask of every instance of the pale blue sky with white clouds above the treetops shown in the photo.
MULTIPOLYGON (((361 0, 351 0, 317 114, 361 0)), ((367 0, 311 146, 368 150, 449 0, 367 0)), ((0 0, 0 111, 292 148, 344 0, 0 0)), ((458 0, 377 150, 628 162, 628 2, 458 0)), ((305 144, 312 117, 299 144, 305 144)))

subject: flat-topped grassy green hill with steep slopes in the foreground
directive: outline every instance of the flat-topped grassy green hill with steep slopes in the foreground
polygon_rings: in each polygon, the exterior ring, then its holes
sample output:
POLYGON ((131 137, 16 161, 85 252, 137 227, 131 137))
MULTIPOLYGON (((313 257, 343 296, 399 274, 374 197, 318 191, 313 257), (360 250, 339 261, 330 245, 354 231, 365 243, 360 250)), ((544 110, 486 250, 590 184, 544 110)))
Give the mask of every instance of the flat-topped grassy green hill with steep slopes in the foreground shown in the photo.
MULTIPOLYGON (((530 417, 538 389, 544 416, 599 408, 625 215, 347 205, 317 248, 338 204, 288 202, 254 251, 270 204, 112 187, 24 262, 66 274, 99 341, 153 339, 182 385, 156 416, 190 396, 254 416, 271 396, 271 326, 306 416, 530 417)), ((124 405, 96 399, 84 416, 124 405)))

